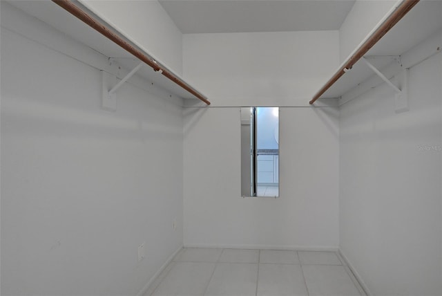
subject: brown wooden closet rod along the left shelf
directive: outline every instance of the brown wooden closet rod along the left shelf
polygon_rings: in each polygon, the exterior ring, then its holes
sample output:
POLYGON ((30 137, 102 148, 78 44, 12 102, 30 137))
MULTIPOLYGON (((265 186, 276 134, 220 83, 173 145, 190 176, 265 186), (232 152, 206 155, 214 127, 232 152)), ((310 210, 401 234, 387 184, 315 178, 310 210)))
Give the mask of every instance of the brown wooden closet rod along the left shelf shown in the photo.
POLYGON ((99 21, 94 19, 92 16, 88 15, 88 13, 86 11, 84 11, 81 8, 79 8, 78 6, 76 6, 72 1, 70 1, 70 0, 52 0, 52 1, 54 3, 56 3, 58 6, 61 6, 61 8, 64 8, 65 10, 70 12, 70 14, 74 15, 75 17, 77 17, 78 19, 83 21, 88 26, 97 30, 97 32, 101 33, 102 35, 104 35, 108 39, 111 39, 111 41, 113 41, 115 44, 118 44, 119 46, 124 48, 126 51, 128 51, 128 53, 131 53, 132 55, 134 55, 135 57, 140 59, 142 62, 148 64, 148 66, 151 66, 154 71, 156 71, 156 72, 160 71, 160 73, 162 73, 162 75, 169 78, 169 80, 175 82, 176 84, 181 86, 186 91, 189 91, 189 93, 191 93, 192 95, 195 95, 195 97, 202 100, 202 102, 210 105, 209 100, 207 100, 204 97, 204 95, 202 95, 198 91, 195 91, 195 89, 193 89, 191 86, 186 84, 186 82, 181 80, 180 77, 177 77, 175 74, 171 73, 171 71, 164 68, 164 66, 157 64, 157 62, 155 62, 154 59, 151 59, 150 57, 148 57, 147 55, 142 53, 142 51, 135 48, 135 46, 132 46, 127 41, 125 41, 122 37, 119 37, 116 33, 114 33, 111 29, 106 27, 104 24, 101 24, 99 21))

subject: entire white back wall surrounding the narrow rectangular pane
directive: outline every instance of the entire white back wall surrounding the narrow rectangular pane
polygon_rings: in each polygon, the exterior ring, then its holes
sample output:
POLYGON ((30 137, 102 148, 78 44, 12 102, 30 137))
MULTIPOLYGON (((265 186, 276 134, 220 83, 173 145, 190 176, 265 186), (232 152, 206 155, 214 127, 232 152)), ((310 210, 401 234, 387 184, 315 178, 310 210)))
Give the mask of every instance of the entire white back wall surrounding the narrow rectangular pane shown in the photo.
POLYGON ((338 112, 307 106, 338 66, 338 32, 183 37, 184 246, 338 247, 338 112), (240 106, 280 108, 280 197, 241 198, 240 106), (217 108, 218 107, 218 108, 217 108))

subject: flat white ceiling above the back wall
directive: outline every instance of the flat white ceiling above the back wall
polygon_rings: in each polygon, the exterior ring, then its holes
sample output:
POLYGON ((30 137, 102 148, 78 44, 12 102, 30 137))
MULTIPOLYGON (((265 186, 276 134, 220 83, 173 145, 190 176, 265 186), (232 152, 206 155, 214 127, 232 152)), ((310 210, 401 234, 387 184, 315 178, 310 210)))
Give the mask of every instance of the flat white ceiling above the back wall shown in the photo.
POLYGON ((184 34, 338 30, 354 0, 160 0, 184 34))

